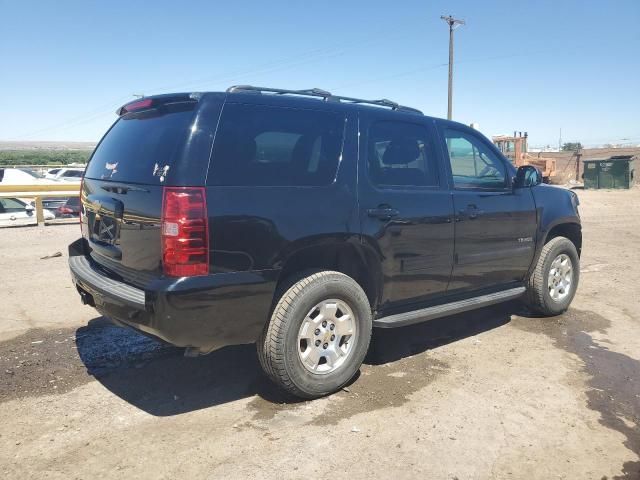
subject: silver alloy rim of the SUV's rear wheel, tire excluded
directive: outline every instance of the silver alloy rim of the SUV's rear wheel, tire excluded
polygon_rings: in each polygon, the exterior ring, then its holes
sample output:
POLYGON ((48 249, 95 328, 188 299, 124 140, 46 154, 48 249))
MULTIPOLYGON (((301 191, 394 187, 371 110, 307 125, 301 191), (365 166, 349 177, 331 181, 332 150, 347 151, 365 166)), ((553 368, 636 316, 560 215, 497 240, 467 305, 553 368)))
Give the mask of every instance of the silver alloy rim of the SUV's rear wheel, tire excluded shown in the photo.
POLYGON ((330 298, 315 305, 298 331, 298 356, 311 373, 334 372, 347 360, 356 340, 356 318, 343 300, 330 298))

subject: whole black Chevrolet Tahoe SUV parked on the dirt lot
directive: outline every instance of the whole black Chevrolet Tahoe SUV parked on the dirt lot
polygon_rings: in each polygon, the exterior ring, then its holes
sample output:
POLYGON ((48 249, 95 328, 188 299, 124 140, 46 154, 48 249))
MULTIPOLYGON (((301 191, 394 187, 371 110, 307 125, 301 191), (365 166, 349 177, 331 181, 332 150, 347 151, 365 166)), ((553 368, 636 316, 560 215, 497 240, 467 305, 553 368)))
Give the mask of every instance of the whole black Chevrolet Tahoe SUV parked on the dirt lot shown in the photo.
POLYGON ((372 327, 576 291, 577 196, 477 131, 388 100, 249 86, 118 110, 81 189, 82 301, 188 355, 257 343, 295 395, 339 389, 372 327))

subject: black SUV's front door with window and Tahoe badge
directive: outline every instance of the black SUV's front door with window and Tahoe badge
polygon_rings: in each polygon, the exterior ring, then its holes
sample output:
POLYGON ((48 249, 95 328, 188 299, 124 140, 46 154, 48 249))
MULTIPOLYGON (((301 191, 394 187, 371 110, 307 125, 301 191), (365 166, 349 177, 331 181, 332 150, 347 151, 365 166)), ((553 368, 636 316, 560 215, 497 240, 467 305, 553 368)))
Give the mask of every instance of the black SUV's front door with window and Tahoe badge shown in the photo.
POLYGON ((443 123, 440 133, 456 215, 449 293, 523 281, 535 252, 531 189, 512 188, 512 167, 476 131, 443 123))

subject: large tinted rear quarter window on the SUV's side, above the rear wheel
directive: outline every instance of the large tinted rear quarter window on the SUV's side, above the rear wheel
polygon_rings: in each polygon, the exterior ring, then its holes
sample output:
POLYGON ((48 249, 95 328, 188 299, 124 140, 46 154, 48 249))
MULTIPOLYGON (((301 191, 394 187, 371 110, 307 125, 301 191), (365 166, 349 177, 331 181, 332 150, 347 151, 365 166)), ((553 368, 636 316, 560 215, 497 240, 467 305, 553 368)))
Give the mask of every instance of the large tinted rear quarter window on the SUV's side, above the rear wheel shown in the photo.
POLYGON ((333 182, 345 119, 317 110, 224 107, 213 147, 209 185, 320 186, 333 182))

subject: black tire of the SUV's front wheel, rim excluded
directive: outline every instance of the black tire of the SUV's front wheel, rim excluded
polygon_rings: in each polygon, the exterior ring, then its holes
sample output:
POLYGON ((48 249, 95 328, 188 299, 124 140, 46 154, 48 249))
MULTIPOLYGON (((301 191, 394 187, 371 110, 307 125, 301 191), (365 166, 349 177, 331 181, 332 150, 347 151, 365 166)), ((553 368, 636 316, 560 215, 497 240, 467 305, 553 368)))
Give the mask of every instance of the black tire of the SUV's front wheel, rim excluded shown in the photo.
POLYGON ((565 237, 554 237, 542 248, 536 268, 529 277, 525 303, 535 313, 544 316, 560 315, 565 312, 576 294, 580 280, 580 257, 575 245, 565 237), (554 300, 549 293, 549 271, 551 264, 565 254, 572 264, 573 279, 568 294, 561 300, 554 300))

